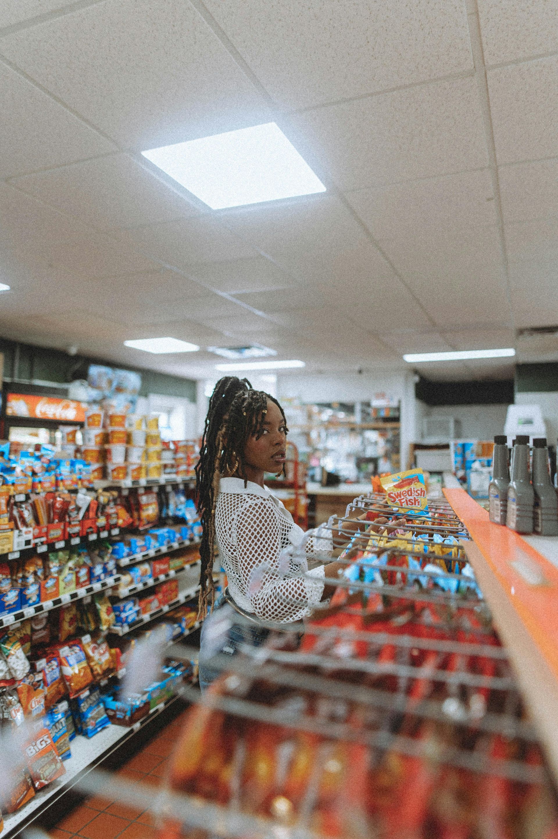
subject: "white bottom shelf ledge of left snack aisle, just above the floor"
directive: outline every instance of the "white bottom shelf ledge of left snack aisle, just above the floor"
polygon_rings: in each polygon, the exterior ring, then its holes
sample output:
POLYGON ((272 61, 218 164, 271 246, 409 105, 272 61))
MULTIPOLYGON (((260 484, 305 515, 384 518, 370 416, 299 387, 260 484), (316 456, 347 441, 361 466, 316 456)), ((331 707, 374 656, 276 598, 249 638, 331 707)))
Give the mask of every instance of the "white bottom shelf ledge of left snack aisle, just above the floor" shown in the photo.
POLYGON ((65 775, 55 781, 53 784, 45 787, 45 789, 38 792, 29 804, 16 810, 9 816, 4 816, 4 831, 2 839, 9 839, 11 836, 18 835, 19 831, 29 825, 30 821, 34 821, 39 814, 50 807, 61 795, 64 795, 68 789, 71 789, 78 781, 83 778, 91 769, 94 769, 98 763, 109 754, 119 748, 122 743, 125 743, 134 736, 141 728, 149 725, 154 717, 157 717, 165 708, 173 705, 179 696, 171 696, 166 702, 161 702, 160 705, 155 706, 147 717, 136 722, 132 727, 123 727, 110 725, 98 732, 95 737, 87 739, 87 737, 77 737, 71 742, 71 758, 65 761, 65 775))

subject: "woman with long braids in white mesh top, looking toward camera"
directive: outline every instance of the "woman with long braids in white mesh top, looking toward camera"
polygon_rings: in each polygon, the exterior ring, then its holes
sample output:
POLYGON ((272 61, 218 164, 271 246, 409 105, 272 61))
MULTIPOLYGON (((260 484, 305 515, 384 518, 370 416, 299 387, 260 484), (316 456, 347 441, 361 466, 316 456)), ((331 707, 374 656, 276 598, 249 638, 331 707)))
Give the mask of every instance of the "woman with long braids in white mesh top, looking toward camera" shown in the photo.
MULTIPOLYGON (((274 628, 302 629, 301 618, 331 597, 343 567, 330 562, 309 571, 312 555, 333 554, 331 534, 295 524, 263 485, 265 472, 284 472, 287 424, 279 402, 247 379, 225 377, 209 403, 196 465, 201 514, 200 616, 213 605, 215 543, 228 587, 201 629, 200 685, 218 675, 211 658, 258 646, 274 628), (297 547, 300 556, 296 556, 297 547)), ((340 546, 345 540, 336 539, 340 546)))

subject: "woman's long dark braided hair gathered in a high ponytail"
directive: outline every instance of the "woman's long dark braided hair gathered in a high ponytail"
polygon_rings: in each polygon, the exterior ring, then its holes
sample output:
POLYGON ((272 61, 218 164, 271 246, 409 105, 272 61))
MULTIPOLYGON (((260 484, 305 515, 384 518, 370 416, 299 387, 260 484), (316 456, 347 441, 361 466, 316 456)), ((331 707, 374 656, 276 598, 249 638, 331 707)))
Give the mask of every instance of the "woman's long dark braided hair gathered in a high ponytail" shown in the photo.
POLYGON ((244 468, 244 447, 248 437, 263 431, 267 400, 284 411, 277 399, 254 390, 248 379, 224 376, 216 383, 206 425, 201 437, 200 460, 196 463, 196 500, 200 513, 201 536, 199 617, 205 618, 215 598, 213 562, 215 557, 215 507, 222 475, 247 478, 244 468))

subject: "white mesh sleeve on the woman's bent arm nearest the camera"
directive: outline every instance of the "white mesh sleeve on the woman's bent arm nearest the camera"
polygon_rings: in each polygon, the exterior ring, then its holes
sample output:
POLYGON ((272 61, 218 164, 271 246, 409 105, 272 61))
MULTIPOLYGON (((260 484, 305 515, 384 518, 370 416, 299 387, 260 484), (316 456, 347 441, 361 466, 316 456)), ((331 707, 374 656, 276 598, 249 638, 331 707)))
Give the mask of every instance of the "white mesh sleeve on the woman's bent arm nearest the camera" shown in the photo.
POLYGON ((305 562, 293 565, 281 550, 281 513, 273 503, 253 498, 235 522, 238 571, 253 611, 278 623, 303 618, 321 600, 323 570, 306 575, 305 562), (317 573, 316 573, 317 572, 317 573))

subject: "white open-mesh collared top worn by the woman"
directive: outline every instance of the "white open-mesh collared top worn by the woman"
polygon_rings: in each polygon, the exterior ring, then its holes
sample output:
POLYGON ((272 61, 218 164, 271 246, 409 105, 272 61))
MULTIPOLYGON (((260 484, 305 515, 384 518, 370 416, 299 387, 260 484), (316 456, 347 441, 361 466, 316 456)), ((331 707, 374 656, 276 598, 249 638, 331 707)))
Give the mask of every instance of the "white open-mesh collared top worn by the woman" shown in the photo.
POLYGON ((289 623, 320 602, 324 566, 309 571, 307 559, 331 555, 331 534, 305 533, 267 487, 248 481, 245 488, 242 478, 222 478, 215 528, 229 592, 246 612, 289 623))

